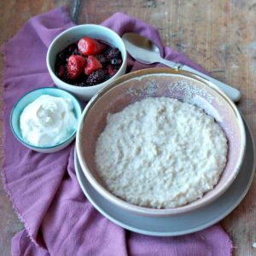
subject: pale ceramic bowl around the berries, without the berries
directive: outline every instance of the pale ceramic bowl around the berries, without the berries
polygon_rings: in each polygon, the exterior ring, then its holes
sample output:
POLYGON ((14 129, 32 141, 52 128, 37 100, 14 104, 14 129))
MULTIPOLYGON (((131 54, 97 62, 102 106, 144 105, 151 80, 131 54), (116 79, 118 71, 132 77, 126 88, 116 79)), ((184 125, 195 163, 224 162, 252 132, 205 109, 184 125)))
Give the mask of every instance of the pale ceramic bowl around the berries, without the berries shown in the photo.
POLYGON ((88 101, 92 96, 96 94, 98 90, 101 90, 103 87, 111 83, 114 79, 125 73, 127 66, 127 53, 123 40, 116 32, 113 32, 113 30, 105 26, 86 24, 73 26, 64 32, 61 32, 61 34, 58 35, 49 45, 49 49, 46 55, 46 64, 49 70, 49 74, 57 87, 70 91, 71 93, 73 93, 74 96, 78 96, 81 100, 88 101), (119 71, 111 79, 108 79, 102 84, 79 87, 73 84, 67 84, 55 75, 56 55, 62 49, 65 49, 68 44, 72 44, 73 42, 78 41, 84 36, 105 41, 113 47, 118 48, 121 52, 123 63, 119 68, 119 71))

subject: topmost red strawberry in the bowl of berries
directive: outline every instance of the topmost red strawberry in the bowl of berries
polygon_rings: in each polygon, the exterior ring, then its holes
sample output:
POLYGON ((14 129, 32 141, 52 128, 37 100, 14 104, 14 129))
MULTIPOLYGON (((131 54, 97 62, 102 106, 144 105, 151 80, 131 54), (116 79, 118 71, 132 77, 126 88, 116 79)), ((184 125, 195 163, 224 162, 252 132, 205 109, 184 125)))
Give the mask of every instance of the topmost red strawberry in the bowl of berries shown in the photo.
POLYGON ((106 45, 100 44, 92 38, 81 38, 79 40, 78 48, 79 53, 82 55, 99 55, 106 49, 106 45))

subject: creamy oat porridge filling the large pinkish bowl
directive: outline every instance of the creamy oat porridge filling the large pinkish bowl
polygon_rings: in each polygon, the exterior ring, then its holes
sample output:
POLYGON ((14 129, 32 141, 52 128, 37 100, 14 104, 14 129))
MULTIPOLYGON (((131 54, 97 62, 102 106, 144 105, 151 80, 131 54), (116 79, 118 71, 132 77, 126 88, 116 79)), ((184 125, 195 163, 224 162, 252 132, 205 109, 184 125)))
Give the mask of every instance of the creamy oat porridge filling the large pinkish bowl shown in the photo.
POLYGON ((142 207, 181 207, 218 183, 226 164, 224 131, 201 108, 160 97, 108 113, 96 142, 106 188, 142 207))

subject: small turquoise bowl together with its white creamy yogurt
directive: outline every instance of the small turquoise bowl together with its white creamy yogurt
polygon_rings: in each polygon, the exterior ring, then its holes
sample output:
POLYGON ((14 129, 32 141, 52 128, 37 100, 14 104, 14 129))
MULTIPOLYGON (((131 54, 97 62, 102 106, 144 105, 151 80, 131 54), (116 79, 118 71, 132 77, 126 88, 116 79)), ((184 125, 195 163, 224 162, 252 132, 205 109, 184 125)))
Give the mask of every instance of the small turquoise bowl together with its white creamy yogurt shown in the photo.
POLYGON ((32 90, 15 104, 10 126, 27 148, 52 153, 72 143, 81 107, 65 90, 51 87, 32 90))

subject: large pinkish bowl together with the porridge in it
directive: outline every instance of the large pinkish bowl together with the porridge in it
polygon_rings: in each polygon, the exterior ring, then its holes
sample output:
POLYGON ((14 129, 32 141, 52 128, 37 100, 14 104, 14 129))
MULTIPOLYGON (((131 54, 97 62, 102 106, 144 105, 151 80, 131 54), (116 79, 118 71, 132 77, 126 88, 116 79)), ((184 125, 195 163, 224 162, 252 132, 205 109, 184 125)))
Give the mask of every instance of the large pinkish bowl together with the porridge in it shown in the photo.
POLYGON ((214 84, 170 68, 126 74, 94 96, 76 144, 85 177, 105 199, 147 216, 190 212, 235 180, 245 131, 214 84))

